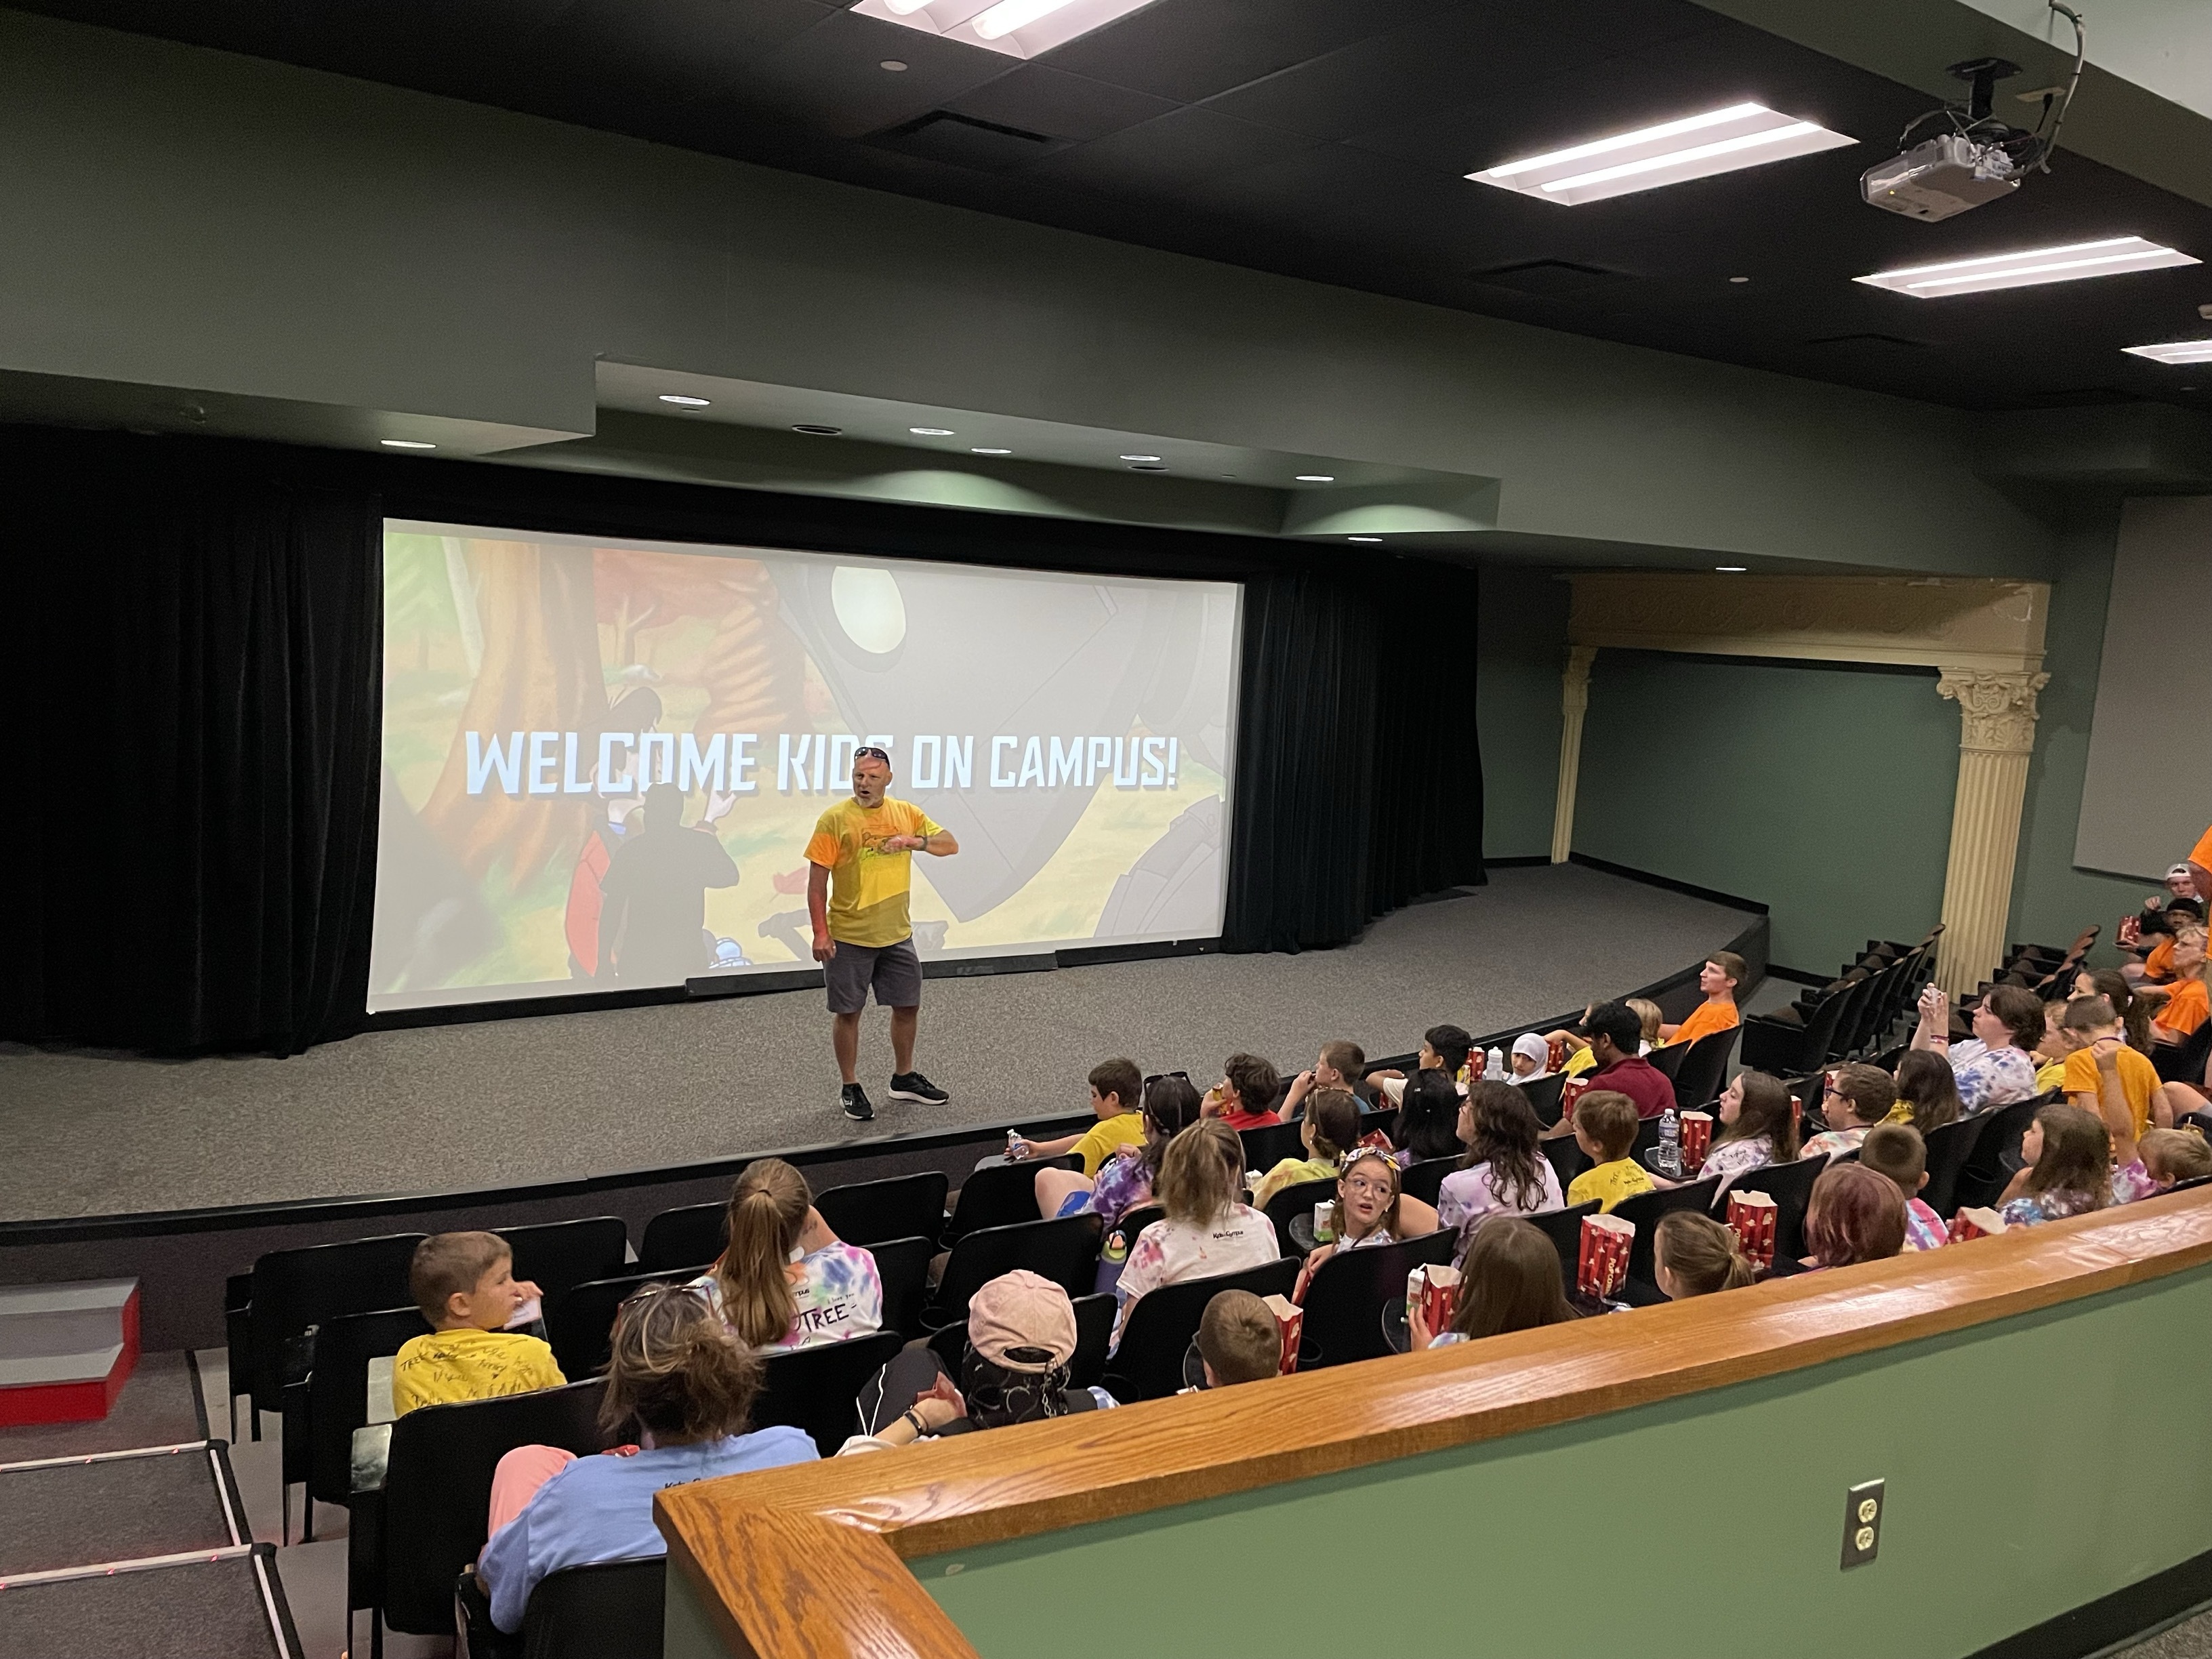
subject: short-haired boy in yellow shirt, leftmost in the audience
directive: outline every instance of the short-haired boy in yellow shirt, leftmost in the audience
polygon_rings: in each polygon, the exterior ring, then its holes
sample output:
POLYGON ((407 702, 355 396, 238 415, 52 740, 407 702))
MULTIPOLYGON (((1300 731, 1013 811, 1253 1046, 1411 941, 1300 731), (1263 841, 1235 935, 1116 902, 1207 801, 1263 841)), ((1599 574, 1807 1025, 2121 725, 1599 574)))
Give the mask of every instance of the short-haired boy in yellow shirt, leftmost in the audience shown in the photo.
POLYGON ((538 1285, 515 1281, 515 1254, 495 1232, 438 1232, 416 1245, 407 1287, 431 1323, 392 1360, 392 1413, 418 1405, 555 1389, 568 1378, 535 1336, 502 1329, 538 1285))

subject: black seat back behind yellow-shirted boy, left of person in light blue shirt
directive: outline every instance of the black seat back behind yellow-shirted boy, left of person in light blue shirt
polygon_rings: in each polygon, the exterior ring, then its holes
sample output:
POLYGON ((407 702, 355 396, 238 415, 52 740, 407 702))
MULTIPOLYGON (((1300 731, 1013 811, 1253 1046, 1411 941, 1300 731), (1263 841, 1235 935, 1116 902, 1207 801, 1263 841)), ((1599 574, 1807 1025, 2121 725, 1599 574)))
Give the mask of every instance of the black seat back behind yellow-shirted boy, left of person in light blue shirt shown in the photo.
POLYGON ((453 1575, 484 1548, 491 1473, 515 1447, 577 1455, 613 1440, 599 1431, 606 1383, 571 1383, 495 1400, 425 1405, 392 1425, 385 1464, 385 1619, 418 1637, 453 1632, 453 1575))

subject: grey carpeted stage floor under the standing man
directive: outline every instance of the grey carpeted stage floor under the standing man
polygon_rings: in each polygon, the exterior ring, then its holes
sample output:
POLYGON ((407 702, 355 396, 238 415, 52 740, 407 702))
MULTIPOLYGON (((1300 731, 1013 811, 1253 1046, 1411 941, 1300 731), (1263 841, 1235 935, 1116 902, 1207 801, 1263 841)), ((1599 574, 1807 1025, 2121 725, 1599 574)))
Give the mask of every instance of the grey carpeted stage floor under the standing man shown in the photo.
POLYGON ((1500 1031, 1650 984, 1747 920, 1551 865, 1498 869, 1340 951, 931 980, 918 1060, 951 1102, 883 1097, 887 1020, 869 1009, 867 1126, 838 1113, 821 991, 378 1031, 294 1060, 7 1048, 0 1219, 491 1188, 1073 1113, 1106 1055, 1212 1082, 1239 1048, 1402 1053, 1440 1020, 1500 1031))

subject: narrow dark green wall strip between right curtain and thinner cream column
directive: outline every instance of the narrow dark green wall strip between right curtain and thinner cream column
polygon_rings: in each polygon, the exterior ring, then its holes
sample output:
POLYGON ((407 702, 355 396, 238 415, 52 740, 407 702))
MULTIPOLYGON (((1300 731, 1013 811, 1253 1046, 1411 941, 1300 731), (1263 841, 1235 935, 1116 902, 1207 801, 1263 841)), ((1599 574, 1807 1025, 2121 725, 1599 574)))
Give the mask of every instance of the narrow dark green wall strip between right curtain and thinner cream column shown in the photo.
POLYGON ((1475 617, 1475 726, 1482 739, 1482 854, 1551 852, 1559 794, 1559 670, 1566 582, 1517 564, 1482 566, 1475 617))

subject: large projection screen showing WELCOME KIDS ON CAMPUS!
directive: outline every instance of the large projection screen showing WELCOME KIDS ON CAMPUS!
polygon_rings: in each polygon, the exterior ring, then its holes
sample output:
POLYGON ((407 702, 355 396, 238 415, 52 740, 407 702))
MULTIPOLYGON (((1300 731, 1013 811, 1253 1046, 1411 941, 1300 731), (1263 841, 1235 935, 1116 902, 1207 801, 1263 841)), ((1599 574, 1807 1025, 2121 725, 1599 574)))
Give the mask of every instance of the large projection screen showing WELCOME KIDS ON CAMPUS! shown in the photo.
POLYGON ((1239 608, 1223 582, 387 520, 369 1011, 812 967, 803 849, 863 743, 960 838, 914 860, 925 960, 1212 938, 1239 608), (602 889, 666 783, 728 869, 686 865, 697 953, 686 927, 679 967, 626 975, 602 889))

